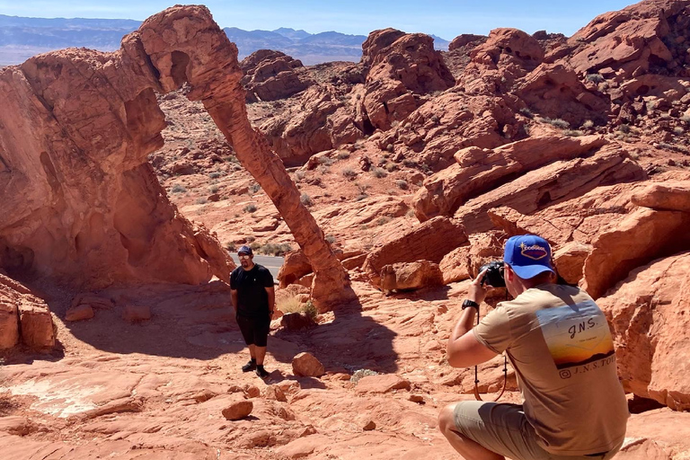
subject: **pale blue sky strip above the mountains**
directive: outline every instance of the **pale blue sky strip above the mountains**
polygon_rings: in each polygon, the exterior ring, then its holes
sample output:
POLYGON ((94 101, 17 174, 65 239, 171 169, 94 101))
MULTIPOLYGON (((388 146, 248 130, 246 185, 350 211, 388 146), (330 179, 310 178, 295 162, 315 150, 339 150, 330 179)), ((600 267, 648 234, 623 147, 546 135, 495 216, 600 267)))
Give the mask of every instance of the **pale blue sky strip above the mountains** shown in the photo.
MULTIPOLYGON (((179 2, 0 0, 0 14, 143 20, 175 3, 179 2)), ((269 31, 290 27, 310 33, 340 31, 358 35, 394 27, 452 40, 461 33, 486 35, 497 27, 516 27, 528 33, 546 30, 570 36, 597 14, 620 10, 632 3, 625 0, 209 0, 204 4, 221 27, 269 31)))

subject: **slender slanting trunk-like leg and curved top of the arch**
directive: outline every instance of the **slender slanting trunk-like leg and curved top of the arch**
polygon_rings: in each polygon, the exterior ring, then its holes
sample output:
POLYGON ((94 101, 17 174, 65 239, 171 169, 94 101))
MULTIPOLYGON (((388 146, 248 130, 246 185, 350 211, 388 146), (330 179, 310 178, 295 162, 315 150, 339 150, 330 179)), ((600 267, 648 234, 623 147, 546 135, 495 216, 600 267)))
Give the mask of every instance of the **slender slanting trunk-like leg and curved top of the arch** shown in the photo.
POLYGON ((347 272, 334 256, 314 217, 278 155, 247 119, 237 49, 227 40, 205 7, 173 7, 152 16, 123 40, 140 40, 164 92, 189 84, 187 97, 204 103, 211 118, 233 146, 237 158, 266 192, 314 268, 312 298, 320 311, 354 298, 347 272), (160 33, 160 31, 169 31, 160 33), (174 31, 174 33, 173 33, 174 31))

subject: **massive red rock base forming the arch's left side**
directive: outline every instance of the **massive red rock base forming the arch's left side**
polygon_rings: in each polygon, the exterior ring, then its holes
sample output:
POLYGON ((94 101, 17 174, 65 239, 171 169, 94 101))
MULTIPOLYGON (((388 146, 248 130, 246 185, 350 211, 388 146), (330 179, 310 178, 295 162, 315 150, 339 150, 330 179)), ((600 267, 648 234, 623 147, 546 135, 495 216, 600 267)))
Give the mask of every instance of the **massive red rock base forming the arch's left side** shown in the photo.
POLYGON ((178 215, 146 163, 164 117, 132 47, 70 49, 0 71, 0 181, 12 197, 0 200, 0 262, 9 273, 83 288, 227 279, 232 261, 178 215))

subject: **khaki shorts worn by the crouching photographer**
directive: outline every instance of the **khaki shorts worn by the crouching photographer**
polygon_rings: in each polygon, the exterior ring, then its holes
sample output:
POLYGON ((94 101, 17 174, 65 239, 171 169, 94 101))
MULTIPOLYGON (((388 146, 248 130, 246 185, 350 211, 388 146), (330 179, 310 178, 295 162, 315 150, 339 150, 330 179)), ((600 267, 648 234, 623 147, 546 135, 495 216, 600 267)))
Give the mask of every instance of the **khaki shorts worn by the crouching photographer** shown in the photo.
POLYGON ((522 406, 517 404, 464 401, 456 404, 453 414, 461 434, 513 460, 607 460, 620 449, 618 446, 591 456, 551 454, 537 444, 535 429, 527 421, 522 406))

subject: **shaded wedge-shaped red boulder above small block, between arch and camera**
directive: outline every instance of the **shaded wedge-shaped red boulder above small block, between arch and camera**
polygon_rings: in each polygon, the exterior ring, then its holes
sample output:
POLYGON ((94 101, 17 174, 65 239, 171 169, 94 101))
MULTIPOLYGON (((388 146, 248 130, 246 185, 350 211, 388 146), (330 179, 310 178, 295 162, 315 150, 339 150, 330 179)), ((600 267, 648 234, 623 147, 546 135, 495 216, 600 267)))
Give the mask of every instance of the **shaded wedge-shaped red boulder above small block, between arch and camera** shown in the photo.
POLYGON ((375 286, 381 284, 381 270, 395 262, 438 263, 448 252, 467 241, 463 226, 448 217, 435 217, 410 232, 375 248, 367 255, 364 270, 375 286))

